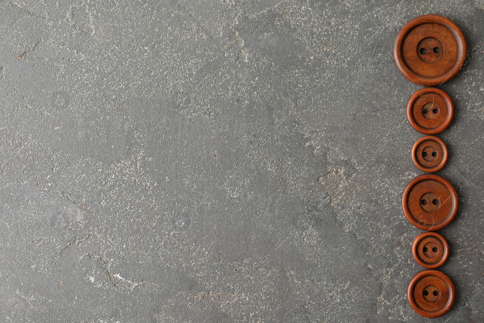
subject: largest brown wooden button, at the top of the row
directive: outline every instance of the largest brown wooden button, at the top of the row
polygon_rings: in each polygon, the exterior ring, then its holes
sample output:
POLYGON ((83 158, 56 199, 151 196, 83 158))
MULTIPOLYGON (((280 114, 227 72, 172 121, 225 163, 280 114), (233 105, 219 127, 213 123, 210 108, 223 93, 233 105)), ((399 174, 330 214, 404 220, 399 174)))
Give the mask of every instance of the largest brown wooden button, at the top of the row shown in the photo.
POLYGON ((467 44, 460 28, 441 15, 421 15, 398 32, 393 57, 398 70, 410 81, 440 85, 464 65, 467 44))

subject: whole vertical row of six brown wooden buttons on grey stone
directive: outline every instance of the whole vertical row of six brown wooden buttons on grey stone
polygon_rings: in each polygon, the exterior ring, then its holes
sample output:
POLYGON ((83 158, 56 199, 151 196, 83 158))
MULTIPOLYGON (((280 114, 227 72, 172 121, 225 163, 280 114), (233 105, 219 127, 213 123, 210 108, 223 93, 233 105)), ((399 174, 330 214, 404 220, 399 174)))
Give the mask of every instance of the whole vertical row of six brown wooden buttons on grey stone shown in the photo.
MULTIPOLYGON (((462 68, 467 55, 464 34, 450 19, 422 15, 410 20, 398 33, 393 56, 398 70, 408 80, 423 86, 441 85, 462 68)), ((410 97, 407 119, 418 132, 427 135, 412 147, 415 166, 427 173, 447 163, 445 142, 433 135, 444 131, 454 117, 454 104, 444 91, 427 87, 410 97)), ((452 280, 434 268, 448 258, 449 245, 434 232, 447 226, 457 213, 459 200, 454 186, 435 174, 412 179, 402 195, 405 217, 425 231, 412 243, 412 255, 427 270, 417 273, 407 288, 410 306, 424 317, 439 317, 452 308, 455 288, 452 280)))

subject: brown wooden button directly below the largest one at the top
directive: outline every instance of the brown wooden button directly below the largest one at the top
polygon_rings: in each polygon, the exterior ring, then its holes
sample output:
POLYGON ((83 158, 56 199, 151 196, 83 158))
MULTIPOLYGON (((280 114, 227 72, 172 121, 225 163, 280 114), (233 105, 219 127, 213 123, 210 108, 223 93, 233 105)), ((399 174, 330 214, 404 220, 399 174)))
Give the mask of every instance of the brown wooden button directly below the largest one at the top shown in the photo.
POLYGON ((444 131, 453 118, 454 103, 449 94, 440 89, 420 89, 408 100, 408 122, 424 135, 435 135, 444 131))

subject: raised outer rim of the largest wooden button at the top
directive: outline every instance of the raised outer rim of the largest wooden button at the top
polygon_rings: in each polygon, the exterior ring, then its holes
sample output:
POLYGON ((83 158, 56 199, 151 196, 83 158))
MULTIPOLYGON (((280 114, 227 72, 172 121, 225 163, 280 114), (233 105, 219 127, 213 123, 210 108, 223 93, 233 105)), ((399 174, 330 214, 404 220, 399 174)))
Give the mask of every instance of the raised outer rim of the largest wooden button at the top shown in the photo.
POLYGON ((402 73, 402 75, 409 81, 423 86, 441 85, 442 83, 445 83, 455 77, 457 73, 459 73, 462 66, 464 66, 466 56, 467 42, 464 33, 459 26, 454 23, 454 21, 442 15, 421 15, 411 19, 398 32, 393 44, 393 59, 400 73, 402 73), (422 77, 416 74, 410 70, 403 59, 402 46, 408 33, 415 27, 426 23, 437 23, 447 28, 454 35, 458 45, 458 54, 454 65, 449 69, 449 71, 438 77, 422 77))

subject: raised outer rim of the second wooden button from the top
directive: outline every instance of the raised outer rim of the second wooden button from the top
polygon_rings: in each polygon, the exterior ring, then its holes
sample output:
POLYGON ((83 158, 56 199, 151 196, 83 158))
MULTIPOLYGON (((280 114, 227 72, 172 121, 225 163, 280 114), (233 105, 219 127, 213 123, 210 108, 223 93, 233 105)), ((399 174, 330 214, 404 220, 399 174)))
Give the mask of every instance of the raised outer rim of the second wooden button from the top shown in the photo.
POLYGON ((449 94, 447 94, 446 92, 444 92, 440 89, 432 88, 432 87, 423 88, 423 89, 420 89, 417 92, 413 93, 410 96, 410 98, 408 99, 408 102, 407 102, 407 120, 408 120, 408 123, 410 123, 410 125, 412 126, 413 129, 417 130, 421 134, 436 135, 438 133, 441 133, 442 131, 447 129, 447 127, 451 124, 453 119, 454 119, 454 102, 452 101, 449 94), (417 99, 419 97, 421 97, 422 95, 429 94, 429 93, 439 95, 442 99, 444 99, 445 104, 447 104, 447 109, 449 111, 448 114, 447 114, 447 119, 445 119, 445 121, 442 124, 440 124, 438 127, 433 128, 433 129, 427 129, 427 128, 423 128, 422 126, 420 126, 415 121, 415 119, 413 117, 413 113, 412 113, 413 112, 413 105, 415 104, 415 101, 417 101, 417 99))

